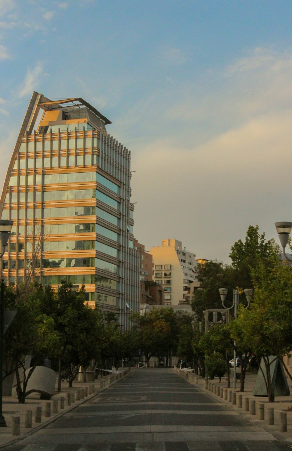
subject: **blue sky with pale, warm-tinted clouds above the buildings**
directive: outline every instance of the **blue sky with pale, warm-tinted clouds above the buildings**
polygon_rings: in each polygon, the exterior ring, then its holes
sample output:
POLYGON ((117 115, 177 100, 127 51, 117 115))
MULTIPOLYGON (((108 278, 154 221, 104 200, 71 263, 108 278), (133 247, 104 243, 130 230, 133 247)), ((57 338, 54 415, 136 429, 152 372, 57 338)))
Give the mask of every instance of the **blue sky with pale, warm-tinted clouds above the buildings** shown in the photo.
POLYGON ((134 235, 228 263, 292 221, 291 0, 0 0, 0 184, 33 91, 131 151, 134 235), (134 172, 135 171, 135 172, 134 172))

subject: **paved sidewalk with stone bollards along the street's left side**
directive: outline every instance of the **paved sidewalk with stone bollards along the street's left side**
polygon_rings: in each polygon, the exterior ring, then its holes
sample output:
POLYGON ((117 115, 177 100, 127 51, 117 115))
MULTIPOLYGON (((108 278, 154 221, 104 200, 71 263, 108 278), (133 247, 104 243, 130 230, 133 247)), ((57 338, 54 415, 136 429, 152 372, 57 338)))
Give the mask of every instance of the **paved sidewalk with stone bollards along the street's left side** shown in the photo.
MULTIPOLYGON (((25 399, 24 404, 20 404, 17 398, 12 396, 3 396, 3 415, 7 424, 6 428, 0 428, 0 448, 8 445, 12 445, 15 442, 31 435, 38 429, 43 428, 46 424, 52 422, 56 418, 62 416, 65 412, 74 409, 76 406, 82 404, 88 399, 96 396, 100 391, 115 384, 121 378, 125 377, 130 372, 130 368, 119 368, 119 374, 112 374, 111 376, 98 377, 94 382, 73 382, 73 387, 68 387, 68 382, 61 383, 61 392, 55 391, 51 400, 40 400, 39 393, 31 393, 25 399), (94 388, 93 388, 94 387, 94 388), (76 400, 78 397, 78 391, 84 389, 87 396, 83 399, 76 400), (71 405, 68 405, 68 393, 70 394, 71 405), (72 395, 72 396, 71 396, 72 395), (74 396, 73 396, 74 395, 74 396), (64 409, 61 409, 60 398, 64 396, 64 409), (74 397, 74 401, 73 401, 74 397), (52 413, 52 401, 58 400, 58 413, 52 413), (46 404, 50 403, 51 413, 50 417, 45 417, 46 404), (35 411, 37 407, 41 407, 41 423, 35 422, 35 411), (25 428, 25 414, 27 410, 32 410, 32 428, 25 428), (20 435, 12 435, 12 423, 13 417, 20 417, 20 435)), ((57 380, 56 380, 57 388, 57 380)))

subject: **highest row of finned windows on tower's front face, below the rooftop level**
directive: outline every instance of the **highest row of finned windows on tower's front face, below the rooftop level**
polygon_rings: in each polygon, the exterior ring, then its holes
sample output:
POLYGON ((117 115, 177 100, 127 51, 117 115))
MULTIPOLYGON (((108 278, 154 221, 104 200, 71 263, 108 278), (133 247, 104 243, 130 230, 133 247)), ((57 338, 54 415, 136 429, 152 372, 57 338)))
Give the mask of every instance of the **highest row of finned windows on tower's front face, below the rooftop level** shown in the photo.
POLYGON ((92 148, 97 147, 97 138, 69 138, 62 137, 63 139, 48 139, 46 141, 28 141, 27 143, 21 143, 19 147, 19 152, 23 153, 27 150, 27 152, 44 152, 50 150, 67 150, 67 149, 84 149, 84 148, 92 148))

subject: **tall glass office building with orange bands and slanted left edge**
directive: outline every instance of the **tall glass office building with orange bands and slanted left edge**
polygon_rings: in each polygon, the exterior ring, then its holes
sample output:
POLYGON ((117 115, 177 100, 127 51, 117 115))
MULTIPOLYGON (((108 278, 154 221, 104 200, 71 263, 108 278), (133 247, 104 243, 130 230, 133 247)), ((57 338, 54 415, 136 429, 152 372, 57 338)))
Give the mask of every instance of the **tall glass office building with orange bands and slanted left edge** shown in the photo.
POLYGON ((1 218, 14 221, 2 275, 10 284, 84 284, 89 304, 127 327, 139 309, 140 270, 130 152, 107 124, 81 98, 33 92, 0 199, 1 218))

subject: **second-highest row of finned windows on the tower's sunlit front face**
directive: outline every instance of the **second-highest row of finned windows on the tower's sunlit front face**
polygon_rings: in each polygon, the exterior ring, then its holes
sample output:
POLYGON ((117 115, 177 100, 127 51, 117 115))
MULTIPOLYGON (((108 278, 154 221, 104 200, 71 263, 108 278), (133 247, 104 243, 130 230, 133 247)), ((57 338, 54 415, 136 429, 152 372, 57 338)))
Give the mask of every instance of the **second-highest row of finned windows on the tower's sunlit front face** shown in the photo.
POLYGON ((33 168, 55 168, 67 166, 91 166, 99 165, 99 156, 94 154, 86 154, 83 159, 83 154, 76 155, 61 155, 61 156, 45 156, 43 158, 22 158, 14 162, 13 169, 33 169, 33 168), (18 166, 19 161, 19 166, 18 166))

